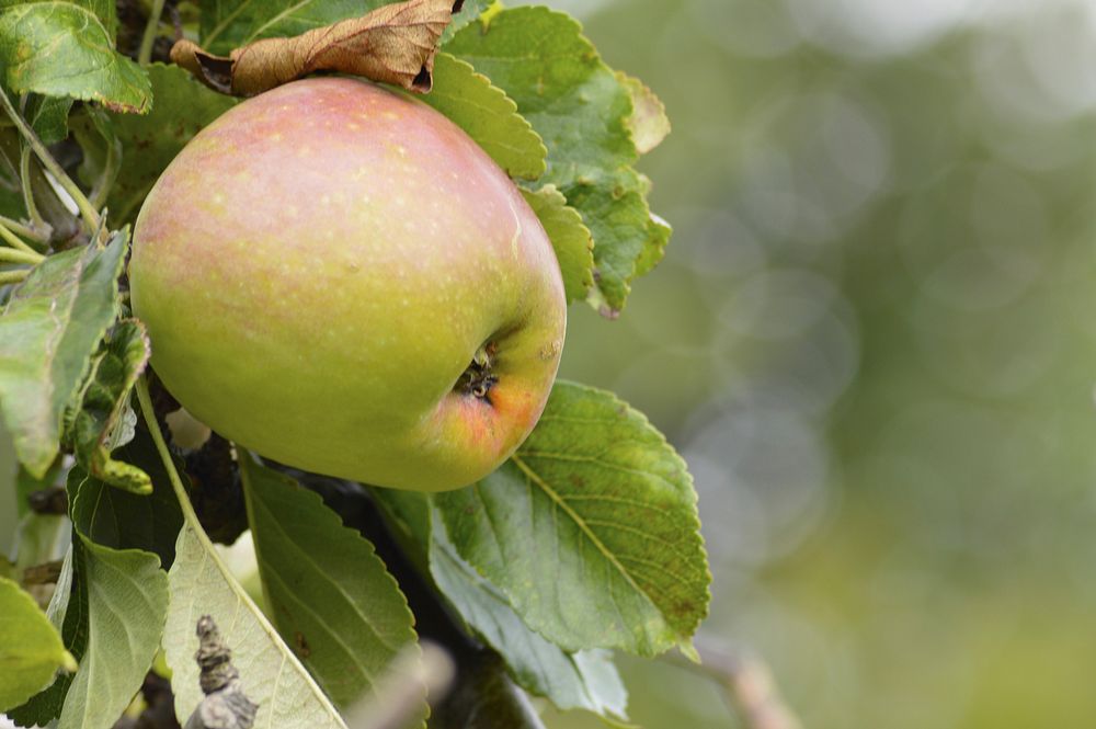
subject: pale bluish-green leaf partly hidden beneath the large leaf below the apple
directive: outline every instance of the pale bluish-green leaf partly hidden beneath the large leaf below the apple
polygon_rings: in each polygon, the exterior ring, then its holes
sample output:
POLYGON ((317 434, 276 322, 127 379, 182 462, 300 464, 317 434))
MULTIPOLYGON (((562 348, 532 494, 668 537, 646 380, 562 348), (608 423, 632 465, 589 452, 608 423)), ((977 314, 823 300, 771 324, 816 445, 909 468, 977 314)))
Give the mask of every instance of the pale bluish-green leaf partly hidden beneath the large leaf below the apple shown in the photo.
POLYGON ((460 558, 441 519, 434 520, 430 555, 438 589, 520 686, 561 709, 625 718, 628 694, 607 651, 567 653, 529 630, 498 588, 460 558))

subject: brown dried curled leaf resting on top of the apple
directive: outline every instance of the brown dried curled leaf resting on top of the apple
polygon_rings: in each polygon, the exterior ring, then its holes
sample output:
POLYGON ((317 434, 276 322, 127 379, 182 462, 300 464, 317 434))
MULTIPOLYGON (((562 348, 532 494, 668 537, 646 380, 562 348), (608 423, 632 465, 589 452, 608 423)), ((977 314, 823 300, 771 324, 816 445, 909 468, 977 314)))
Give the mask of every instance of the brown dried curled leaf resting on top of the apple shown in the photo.
POLYGON ((228 57, 179 41, 171 60, 212 89, 254 96, 315 71, 364 76, 426 93, 437 41, 464 0, 408 0, 292 38, 263 38, 228 57))

